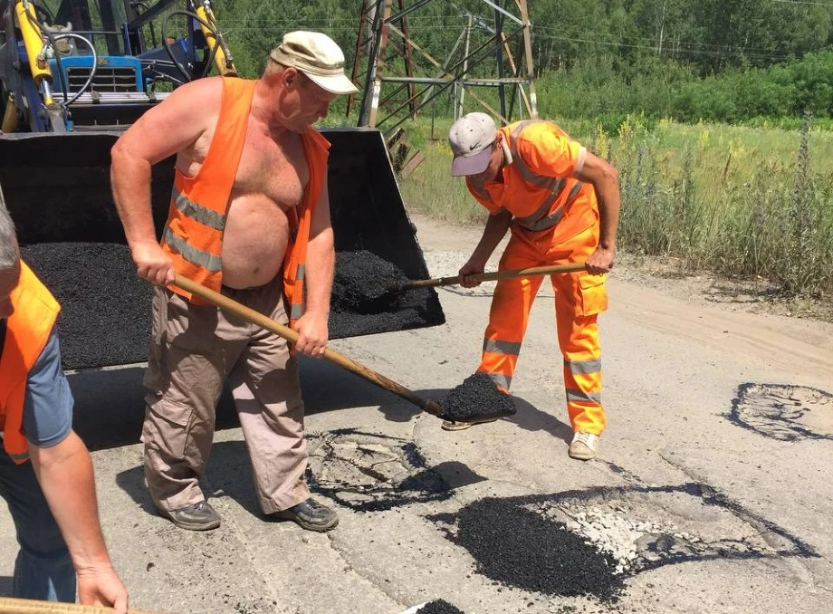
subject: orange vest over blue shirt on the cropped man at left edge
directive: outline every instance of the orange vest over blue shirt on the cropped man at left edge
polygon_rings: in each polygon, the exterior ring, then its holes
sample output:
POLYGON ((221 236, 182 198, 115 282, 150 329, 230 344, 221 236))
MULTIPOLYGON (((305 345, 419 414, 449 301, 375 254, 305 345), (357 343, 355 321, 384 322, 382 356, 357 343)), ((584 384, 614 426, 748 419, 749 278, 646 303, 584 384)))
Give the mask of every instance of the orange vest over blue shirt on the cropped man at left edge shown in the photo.
POLYGON ((61 305, 23 261, 10 299, 14 312, 6 321, 0 357, 0 430, 6 453, 20 465, 29 460, 23 433, 26 381, 49 341, 61 305))

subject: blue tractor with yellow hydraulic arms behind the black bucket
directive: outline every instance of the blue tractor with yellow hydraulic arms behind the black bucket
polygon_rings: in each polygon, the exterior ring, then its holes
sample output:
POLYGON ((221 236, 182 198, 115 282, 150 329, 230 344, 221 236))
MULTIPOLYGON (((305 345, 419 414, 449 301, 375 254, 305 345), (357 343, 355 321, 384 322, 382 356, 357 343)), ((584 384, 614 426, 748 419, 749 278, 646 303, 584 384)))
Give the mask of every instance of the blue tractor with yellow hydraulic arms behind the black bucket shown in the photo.
POLYGON ((4 0, 0 12, 5 134, 120 130, 177 85, 236 72, 208 0, 4 0))

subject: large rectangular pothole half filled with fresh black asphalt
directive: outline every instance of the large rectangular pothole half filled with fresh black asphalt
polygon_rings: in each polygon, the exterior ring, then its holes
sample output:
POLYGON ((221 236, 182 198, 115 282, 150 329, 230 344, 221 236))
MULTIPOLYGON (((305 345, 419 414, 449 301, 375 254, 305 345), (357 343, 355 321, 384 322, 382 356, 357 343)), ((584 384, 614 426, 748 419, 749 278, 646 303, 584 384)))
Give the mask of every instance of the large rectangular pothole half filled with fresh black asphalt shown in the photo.
POLYGON ((818 556, 705 484, 483 499, 432 518, 491 580, 617 600, 641 571, 689 561, 818 556))

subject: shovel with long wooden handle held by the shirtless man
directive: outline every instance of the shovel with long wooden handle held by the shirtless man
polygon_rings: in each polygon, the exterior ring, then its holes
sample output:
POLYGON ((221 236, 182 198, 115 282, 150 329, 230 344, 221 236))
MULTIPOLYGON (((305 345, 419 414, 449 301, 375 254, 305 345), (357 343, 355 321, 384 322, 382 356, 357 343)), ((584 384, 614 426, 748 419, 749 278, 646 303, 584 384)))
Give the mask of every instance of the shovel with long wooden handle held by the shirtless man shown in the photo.
MULTIPOLYGON (((272 318, 269 318, 263 313, 255 312, 254 309, 250 309, 246 307, 244 304, 234 301, 233 299, 224 296, 221 293, 217 293, 214 290, 206 288, 206 286, 192 282, 191 280, 183 277, 181 275, 177 275, 174 279, 173 284, 183 290, 196 294, 200 298, 205 299, 208 302, 214 303, 220 309, 224 309, 227 312, 234 313, 235 315, 240 316, 246 321, 250 321, 261 328, 271 331, 274 334, 278 335, 282 339, 289 341, 291 343, 295 343, 298 341, 298 332, 292 330, 288 326, 284 326, 280 322, 274 321, 272 318)), ((386 378, 384 375, 377 373, 367 367, 360 365, 355 360, 349 359, 347 356, 340 354, 336 350, 330 350, 327 348, 324 350, 324 358, 326 360, 330 360, 330 362, 334 362, 335 364, 343 367, 344 369, 349 370, 352 373, 355 373, 361 378, 367 379, 369 382, 376 384, 377 386, 388 390, 389 392, 393 392, 398 397, 404 398, 405 400, 413 403, 416 407, 422 409, 423 411, 431 414, 432 416, 441 417, 444 419, 455 419, 454 416, 450 416, 444 413, 443 408, 434 400, 428 398, 422 398, 417 395, 415 392, 405 388, 401 384, 397 384, 397 382, 393 381, 392 379, 386 378)), ((471 410, 472 408, 469 408, 471 410)), ((503 413, 499 416, 492 416, 489 412, 490 408, 484 408, 484 415, 478 415, 478 419, 484 418, 491 418, 491 417, 503 417, 503 413), (485 415, 487 412, 490 415, 485 415)), ((2 614, 2 612, 0 612, 2 614)))

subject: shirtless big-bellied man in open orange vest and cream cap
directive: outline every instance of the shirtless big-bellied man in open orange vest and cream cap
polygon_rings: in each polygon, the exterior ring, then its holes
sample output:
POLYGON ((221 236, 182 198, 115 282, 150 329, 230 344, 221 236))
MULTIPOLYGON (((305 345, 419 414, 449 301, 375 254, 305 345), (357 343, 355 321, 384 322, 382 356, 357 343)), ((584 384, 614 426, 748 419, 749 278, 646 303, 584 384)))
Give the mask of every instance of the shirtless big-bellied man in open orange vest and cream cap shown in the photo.
POLYGON ((154 504, 177 526, 215 529, 199 488, 215 406, 228 380, 263 513, 304 529, 338 522, 303 482, 307 448, 295 357, 286 341, 166 285, 176 273, 287 322, 295 349, 327 345, 334 267, 329 143, 312 124, 356 88, 324 34, 293 32, 257 81, 183 85, 113 147, 111 180, 139 276, 157 284, 142 441, 154 504), (177 154, 168 223, 157 241, 150 168, 177 154))

